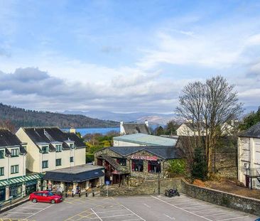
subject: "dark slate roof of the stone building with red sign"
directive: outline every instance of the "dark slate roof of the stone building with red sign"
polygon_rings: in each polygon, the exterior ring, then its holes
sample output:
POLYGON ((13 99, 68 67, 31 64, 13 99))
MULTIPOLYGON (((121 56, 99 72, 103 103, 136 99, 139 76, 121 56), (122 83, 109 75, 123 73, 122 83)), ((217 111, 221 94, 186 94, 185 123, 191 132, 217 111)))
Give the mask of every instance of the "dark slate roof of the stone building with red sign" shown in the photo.
POLYGON ((139 151, 147 151, 163 159, 185 158, 183 151, 174 146, 110 146, 108 149, 124 157, 139 151))

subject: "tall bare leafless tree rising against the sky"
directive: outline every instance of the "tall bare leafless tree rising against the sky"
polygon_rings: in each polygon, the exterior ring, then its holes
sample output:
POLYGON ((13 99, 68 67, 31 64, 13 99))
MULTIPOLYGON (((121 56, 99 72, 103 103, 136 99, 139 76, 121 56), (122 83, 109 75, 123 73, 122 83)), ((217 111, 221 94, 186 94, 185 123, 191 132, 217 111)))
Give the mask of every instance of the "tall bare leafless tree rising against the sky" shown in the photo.
POLYGON ((217 139, 222 135, 222 125, 242 114, 242 103, 239 103, 234 85, 229 85, 222 76, 207 79, 205 83, 193 82, 183 88, 176 108, 183 121, 192 122, 197 131, 197 147, 203 146, 207 162, 208 175, 212 169, 212 151, 217 139), (205 142, 202 142, 205 136, 205 142))

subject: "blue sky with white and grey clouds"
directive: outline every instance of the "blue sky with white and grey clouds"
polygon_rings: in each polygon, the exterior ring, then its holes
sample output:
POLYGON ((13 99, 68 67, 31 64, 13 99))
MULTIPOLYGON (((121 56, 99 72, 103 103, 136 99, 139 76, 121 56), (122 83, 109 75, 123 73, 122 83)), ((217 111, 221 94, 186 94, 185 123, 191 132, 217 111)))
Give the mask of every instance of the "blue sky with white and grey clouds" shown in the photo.
POLYGON ((260 105, 260 1, 0 0, 0 102, 172 113, 188 82, 260 105))

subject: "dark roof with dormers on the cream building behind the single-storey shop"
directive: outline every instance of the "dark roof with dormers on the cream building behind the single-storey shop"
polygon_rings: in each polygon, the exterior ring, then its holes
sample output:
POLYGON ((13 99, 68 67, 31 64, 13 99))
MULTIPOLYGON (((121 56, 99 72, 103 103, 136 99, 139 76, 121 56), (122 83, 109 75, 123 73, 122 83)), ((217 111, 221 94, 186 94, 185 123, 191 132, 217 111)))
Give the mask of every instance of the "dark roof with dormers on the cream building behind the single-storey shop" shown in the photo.
MULTIPOLYGON (((23 127, 23 131, 35 144, 58 141, 63 143, 63 149, 70 149, 65 141, 74 141, 75 148, 85 148, 85 144, 76 134, 63 132, 58 127, 23 127)), ((53 149, 55 150, 54 146, 50 145, 50 150, 53 149)))

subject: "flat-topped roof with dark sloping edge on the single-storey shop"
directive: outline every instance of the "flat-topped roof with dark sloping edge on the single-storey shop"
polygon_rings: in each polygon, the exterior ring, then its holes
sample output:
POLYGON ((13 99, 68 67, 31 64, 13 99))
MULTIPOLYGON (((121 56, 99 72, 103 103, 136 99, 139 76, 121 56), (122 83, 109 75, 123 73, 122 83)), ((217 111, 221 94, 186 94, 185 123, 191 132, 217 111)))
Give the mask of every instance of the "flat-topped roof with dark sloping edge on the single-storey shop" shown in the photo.
POLYGON ((43 179, 80 183, 85 180, 91 180, 93 178, 104 176, 102 169, 104 169, 102 166, 91 166, 86 164, 80 166, 71 166, 54 171, 46 171, 43 179))

